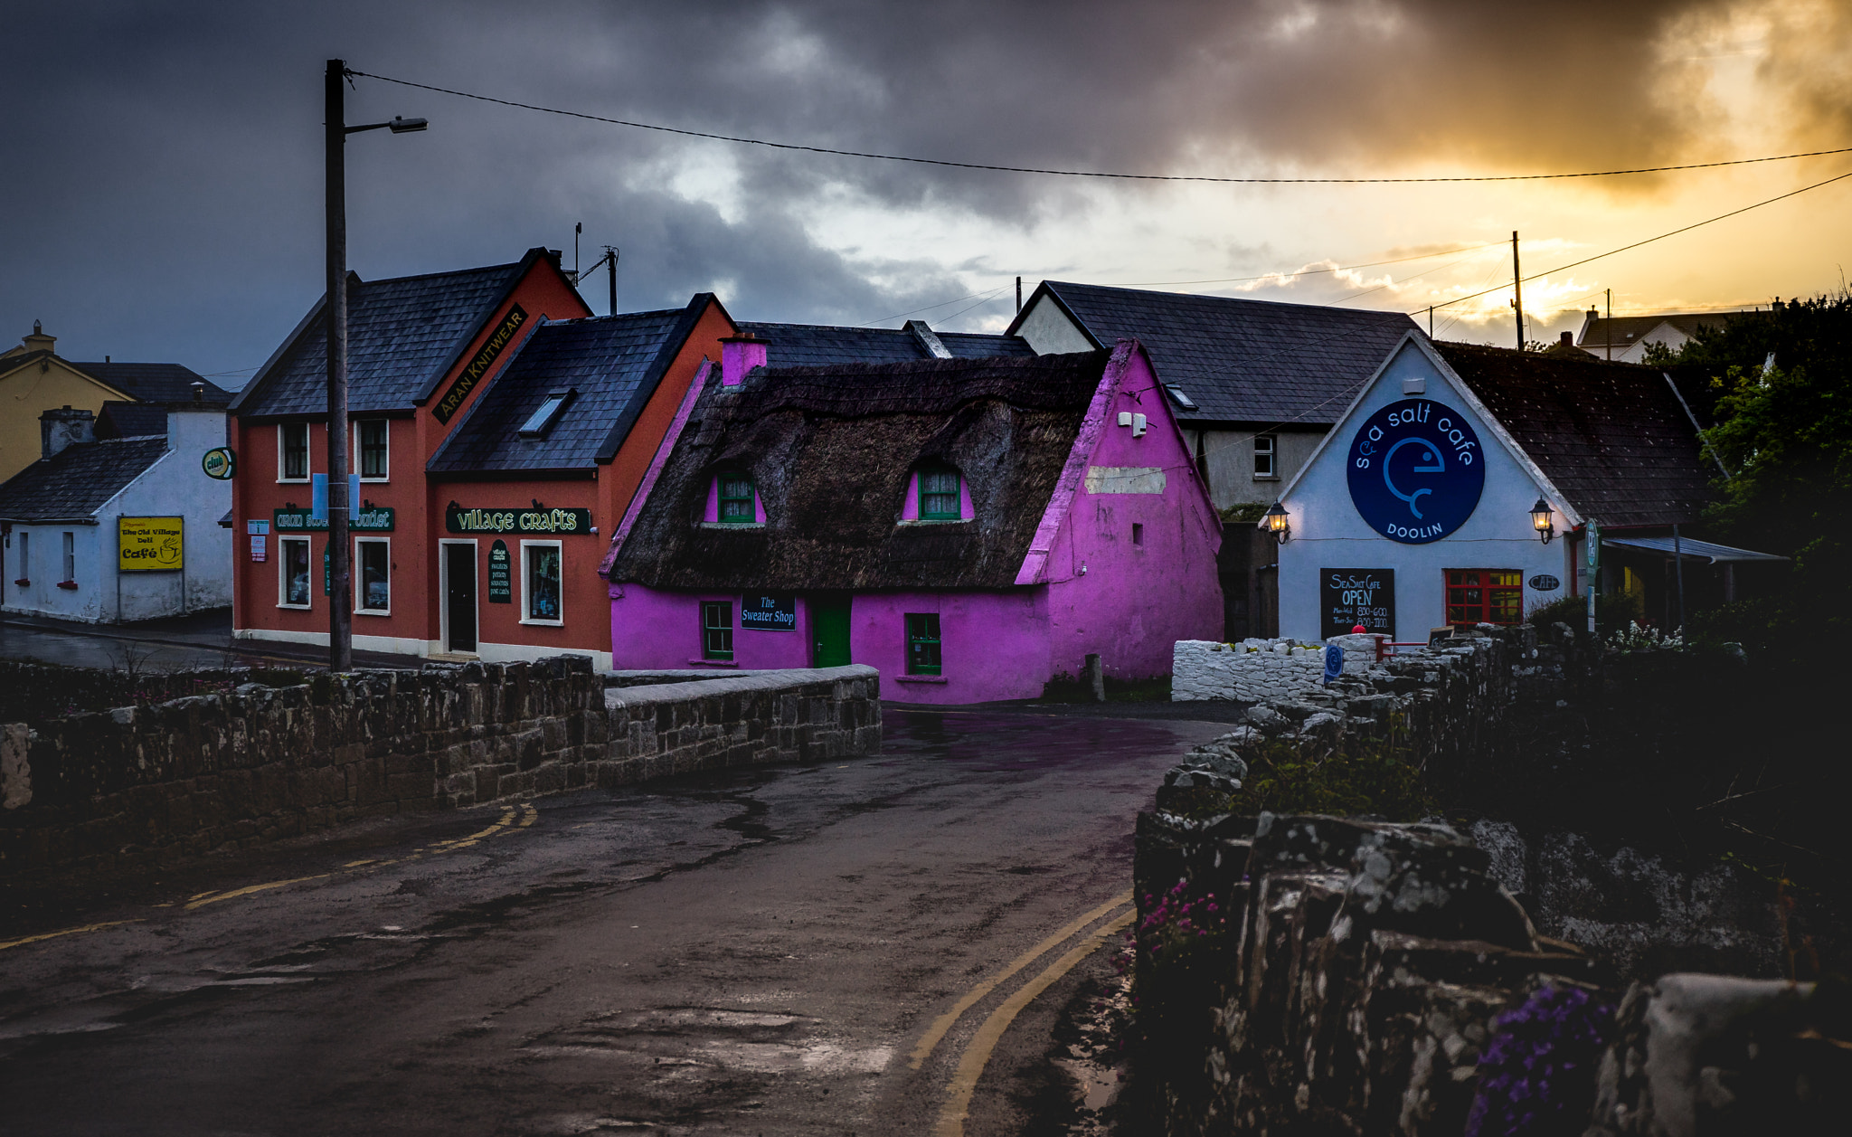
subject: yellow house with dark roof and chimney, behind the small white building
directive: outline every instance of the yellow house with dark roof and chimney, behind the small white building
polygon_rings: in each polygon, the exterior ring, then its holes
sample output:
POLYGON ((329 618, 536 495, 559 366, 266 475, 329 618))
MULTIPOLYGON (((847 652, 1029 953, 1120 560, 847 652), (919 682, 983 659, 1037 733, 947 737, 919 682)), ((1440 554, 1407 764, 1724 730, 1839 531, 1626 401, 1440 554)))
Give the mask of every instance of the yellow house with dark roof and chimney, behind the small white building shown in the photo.
MULTIPOLYGON (((0 352, 0 481, 44 454, 39 415, 57 407, 104 417, 106 404, 215 406, 232 393, 178 363, 72 363, 37 320, 20 346, 0 352)), ((141 433, 141 431, 137 431, 141 433)))

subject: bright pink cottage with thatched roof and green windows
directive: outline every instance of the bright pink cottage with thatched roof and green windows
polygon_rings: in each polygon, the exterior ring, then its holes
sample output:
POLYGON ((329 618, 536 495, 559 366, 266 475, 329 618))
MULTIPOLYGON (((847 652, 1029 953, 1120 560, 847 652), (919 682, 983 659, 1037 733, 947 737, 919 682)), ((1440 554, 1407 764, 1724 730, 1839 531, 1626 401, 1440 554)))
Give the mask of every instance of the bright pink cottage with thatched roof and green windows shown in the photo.
POLYGON ((1220 633, 1220 526, 1137 341, 763 363, 722 341, 613 535, 615 668, 867 663, 965 704, 1220 633))

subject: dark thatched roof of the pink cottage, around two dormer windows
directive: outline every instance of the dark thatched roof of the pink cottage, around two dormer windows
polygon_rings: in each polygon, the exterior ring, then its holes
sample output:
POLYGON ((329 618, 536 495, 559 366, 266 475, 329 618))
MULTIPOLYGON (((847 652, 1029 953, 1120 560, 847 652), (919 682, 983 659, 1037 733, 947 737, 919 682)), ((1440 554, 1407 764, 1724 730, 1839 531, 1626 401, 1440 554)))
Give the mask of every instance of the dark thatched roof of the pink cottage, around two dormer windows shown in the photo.
POLYGON ((613 581, 672 589, 1006 589, 1100 385, 1107 352, 754 369, 709 378, 613 581), (974 520, 898 524, 922 459, 965 476, 974 520), (720 470, 754 476, 763 526, 702 526, 720 470))

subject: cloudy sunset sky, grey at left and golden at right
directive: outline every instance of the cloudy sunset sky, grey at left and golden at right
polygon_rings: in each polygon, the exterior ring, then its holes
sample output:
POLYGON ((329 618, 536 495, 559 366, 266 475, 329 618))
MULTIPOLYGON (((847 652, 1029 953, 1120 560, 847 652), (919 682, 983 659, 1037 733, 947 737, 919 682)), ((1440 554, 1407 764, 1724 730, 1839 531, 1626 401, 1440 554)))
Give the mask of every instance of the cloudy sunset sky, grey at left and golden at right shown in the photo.
MULTIPOLYGON (((104 4, 9 20, 0 339, 239 385, 322 291, 320 74, 696 131, 1222 178, 1556 174, 1852 146, 1830 0, 104 4)), ((1000 330, 1015 276, 1422 311, 1852 172, 1852 154, 1420 185, 1054 178, 700 141, 356 80, 363 278, 622 250, 620 307, 1000 330), (1428 259, 1309 272, 1463 250, 1428 259), (1272 274, 1272 276, 1267 276, 1272 274), (1259 278, 1259 280, 1243 280, 1259 278)), ((1524 285, 1554 339, 1843 287, 1852 178, 1524 285)), ((604 278, 585 296, 604 311, 604 278)), ((1509 287, 1437 333, 1511 344, 1509 287)))

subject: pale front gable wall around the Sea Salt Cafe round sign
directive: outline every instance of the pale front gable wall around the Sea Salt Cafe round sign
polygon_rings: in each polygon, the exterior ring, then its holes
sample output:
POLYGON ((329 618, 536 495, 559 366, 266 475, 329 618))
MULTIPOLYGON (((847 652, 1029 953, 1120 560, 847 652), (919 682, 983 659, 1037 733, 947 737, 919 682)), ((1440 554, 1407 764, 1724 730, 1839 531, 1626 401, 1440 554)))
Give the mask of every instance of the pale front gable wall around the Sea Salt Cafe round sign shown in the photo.
POLYGON ((1561 502, 1539 485, 1502 441, 1502 431, 1474 411, 1476 400, 1456 383, 1458 378, 1409 337, 1287 489, 1282 504, 1293 530, 1280 548, 1280 635, 1320 637, 1322 568, 1393 568, 1398 641, 1426 641, 1432 628, 1446 624, 1446 568, 1520 572, 1526 581, 1526 611, 1567 594, 1572 543, 1563 539, 1569 520, 1561 513, 1561 502), (1422 380, 1426 391, 1404 394, 1404 380, 1422 380), (1450 407, 1472 424, 1483 450, 1485 489, 1472 517, 1428 544, 1404 544, 1376 533, 1350 500, 1346 463, 1352 437, 1370 415, 1406 398, 1426 398, 1450 407), (1558 537, 1550 544, 1537 539, 1530 522, 1530 507, 1539 496, 1556 507, 1558 537), (1528 581, 1539 574, 1556 576, 1563 583, 1552 593, 1535 593, 1528 581))

